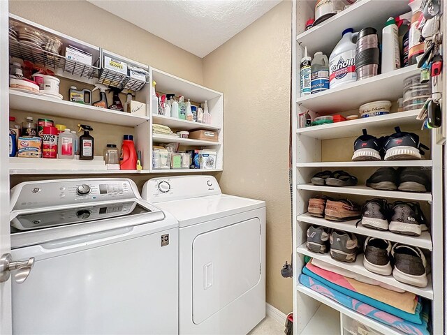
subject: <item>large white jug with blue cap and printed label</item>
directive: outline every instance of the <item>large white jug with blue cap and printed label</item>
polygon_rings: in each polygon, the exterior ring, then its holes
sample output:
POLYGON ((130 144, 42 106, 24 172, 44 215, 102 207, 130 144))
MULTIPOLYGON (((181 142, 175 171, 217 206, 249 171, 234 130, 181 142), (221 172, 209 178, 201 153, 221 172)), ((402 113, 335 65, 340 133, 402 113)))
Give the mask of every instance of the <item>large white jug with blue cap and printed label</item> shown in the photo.
POLYGON ((355 82, 356 76, 356 38, 352 28, 345 29, 342 39, 335 45, 329 57, 329 87, 331 89, 342 84, 355 82))

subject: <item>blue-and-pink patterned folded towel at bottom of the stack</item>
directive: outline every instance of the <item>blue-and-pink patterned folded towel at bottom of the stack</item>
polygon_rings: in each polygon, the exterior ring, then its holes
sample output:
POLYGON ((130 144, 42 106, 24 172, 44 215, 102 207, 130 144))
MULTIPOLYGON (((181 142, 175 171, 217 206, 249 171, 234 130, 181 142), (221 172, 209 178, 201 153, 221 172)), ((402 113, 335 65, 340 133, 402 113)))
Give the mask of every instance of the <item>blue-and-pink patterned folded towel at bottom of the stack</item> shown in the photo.
MULTIPOLYGON (((430 332, 428 332, 427 330, 426 318, 421 318, 422 325, 416 325, 412 322, 402 320, 402 318, 398 318, 395 315, 380 311, 379 309, 374 308, 373 306, 369 306, 368 304, 358 301, 357 299, 348 297, 347 295, 344 295, 343 293, 338 292, 337 290, 334 290, 329 286, 324 285, 320 281, 316 281, 314 278, 311 278, 305 274, 300 274, 299 281, 307 288, 310 288, 311 290, 314 290, 315 292, 318 292, 321 295, 328 297, 329 299, 337 301, 339 304, 342 304, 346 308, 356 311, 357 313, 360 313, 362 315, 366 315, 367 317, 382 322, 385 325, 398 329, 404 334, 430 335, 430 332)), ((420 307, 416 309, 420 310, 420 307)))

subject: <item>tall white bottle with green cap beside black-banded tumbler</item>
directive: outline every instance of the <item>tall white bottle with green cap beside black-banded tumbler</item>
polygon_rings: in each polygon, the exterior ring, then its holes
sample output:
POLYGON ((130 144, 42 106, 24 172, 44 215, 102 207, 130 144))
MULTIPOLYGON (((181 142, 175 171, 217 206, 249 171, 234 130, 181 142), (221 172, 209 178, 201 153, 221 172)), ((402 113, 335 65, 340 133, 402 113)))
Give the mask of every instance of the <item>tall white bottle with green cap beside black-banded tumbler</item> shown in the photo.
POLYGON ((390 17, 382 29, 382 73, 400 68, 399 29, 390 17))

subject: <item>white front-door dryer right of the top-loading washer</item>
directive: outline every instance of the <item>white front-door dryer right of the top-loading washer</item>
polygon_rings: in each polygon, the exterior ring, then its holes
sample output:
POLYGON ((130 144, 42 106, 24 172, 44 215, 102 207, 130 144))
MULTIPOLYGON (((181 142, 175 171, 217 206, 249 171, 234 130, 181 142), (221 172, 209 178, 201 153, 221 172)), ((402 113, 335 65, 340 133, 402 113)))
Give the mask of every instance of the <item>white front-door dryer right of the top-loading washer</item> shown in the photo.
POLYGON ((247 334, 265 318, 265 202, 211 176, 150 179, 142 197, 179 221, 179 334, 247 334))

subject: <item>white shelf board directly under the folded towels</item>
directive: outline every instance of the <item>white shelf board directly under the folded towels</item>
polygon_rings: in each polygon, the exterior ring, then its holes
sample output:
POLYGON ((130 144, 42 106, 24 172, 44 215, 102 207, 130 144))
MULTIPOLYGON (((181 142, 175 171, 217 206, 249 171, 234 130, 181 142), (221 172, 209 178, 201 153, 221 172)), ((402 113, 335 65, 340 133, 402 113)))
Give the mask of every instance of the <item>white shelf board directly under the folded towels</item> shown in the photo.
MULTIPOLYGON (((352 318, 354 320, 357 320, 358 322, 361 322, 364 325, 367 325, 368 327, 371 327, 372 329, 375 329, 378 332, 381 332, 386 335, 404 335, 404 333, 398 331, 395 328, 388 327, 387 325, 384 325, 383 323, 373 320, 371 318, 368 318, 365 315, 362 315, 360 313, 357 313, 356 311, 353 311, 350 308, 347 308, 343 306, 342 304, 339 304, 337 301, 332 300, 328 297, 325 297, 324 295, 321 295, 321 293, 315 292, 314 290, 307 288, 305 285, 298 284, 296 289, 298 292, 301 292, 302 294, 307 295, 308 297, 312 297, 316 299, 317 301, 320 301, 322 304, 325 304, 329 306, 330 308, 334 308, 335 310, 339 311, 340 313, 343 313, 344 315, 349 316, 349 318, 352 318)), ((320 320, 320 322, 324 322, 324 318, 320 320)), ((321 334, 339 334, 340 329, 334 329, 332 332, 329 333, 321 333, 321 334)), ((318 334, 318 333, 316 333, 318 334)), ((315 335, 316 335, 315 334, 315 335)), ((314 334, 312 334, 314 335, 314 334)), ((319 335, 319 334, 318 334, 319 335)))

